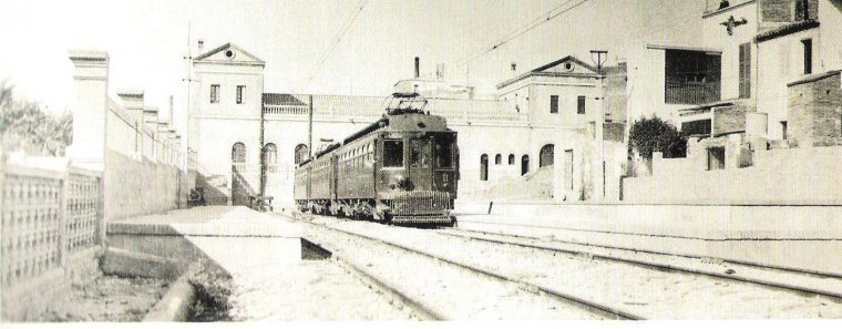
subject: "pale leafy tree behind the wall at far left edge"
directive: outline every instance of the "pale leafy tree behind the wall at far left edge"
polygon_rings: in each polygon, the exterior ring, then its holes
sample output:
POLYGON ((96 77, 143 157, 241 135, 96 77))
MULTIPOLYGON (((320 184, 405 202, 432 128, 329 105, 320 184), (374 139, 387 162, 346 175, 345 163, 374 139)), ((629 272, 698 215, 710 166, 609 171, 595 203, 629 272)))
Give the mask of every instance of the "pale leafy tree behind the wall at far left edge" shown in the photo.
POLYGON ((30 155, 64 155, 73 135, 73 116, 49 115, 32 101, 16 100, 13 86, 0 84, 0 135, 4 150, 23 150, 30 155))

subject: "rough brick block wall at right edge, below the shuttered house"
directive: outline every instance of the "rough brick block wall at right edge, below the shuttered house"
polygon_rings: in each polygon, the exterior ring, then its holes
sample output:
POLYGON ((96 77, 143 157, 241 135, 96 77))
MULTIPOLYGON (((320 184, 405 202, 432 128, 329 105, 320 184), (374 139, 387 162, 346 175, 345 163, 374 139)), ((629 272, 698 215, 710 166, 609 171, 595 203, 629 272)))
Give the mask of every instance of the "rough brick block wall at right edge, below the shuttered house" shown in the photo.
POLYGON ((792 147, 842 145, 840 73, 790 83, 787 116, 792 147))

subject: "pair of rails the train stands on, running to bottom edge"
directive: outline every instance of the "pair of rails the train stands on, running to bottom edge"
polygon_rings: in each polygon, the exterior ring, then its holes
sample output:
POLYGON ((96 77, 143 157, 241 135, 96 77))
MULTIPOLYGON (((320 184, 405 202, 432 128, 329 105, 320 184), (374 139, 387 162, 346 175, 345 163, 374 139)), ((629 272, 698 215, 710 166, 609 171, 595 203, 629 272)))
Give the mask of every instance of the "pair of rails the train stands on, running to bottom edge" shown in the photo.
MULTIPOLYGON (((307 225, 310 225, 311 227, 316 227, 318 230, 324 234, 325 232, 331 232, 335 234, 339 234, 341 236, 345 236, 346 238, 350 239, 362 239, 368 241, 369 244, 378 244, 378 245, 387 245, 391 248, 401 250, 402 253, 414 255, 417 258, 423 258, 427 259, 428 263, 433 264, 443 264, 452 269, 458 269, 458 271, 468 276, 473 276, 473 278, 466 279, 465 282, 469 285, 468 288, 473 289, 473 291, 466 291, 466 290, 460 290, 460 299, 464 299, 464 294, 481 294, 487 296, 481 296, 483 299, 486 300, 493 300, 494 296, 494 289, 493 287, 490 288, 490 286, 500 286, 503 285, 504 287, 510 287, 507 290, 507 294, 516 294, 520 295, 516 297, 516 299, 520 300, 526 300, 530 302, 533 302, 536 305, 536 307, 546 307, 550 305, 548 302, 555 302, 556 305, 561 305, 563 308, 566 308, 566 312, 573 311, 573 312, 588 312, 589 315, 574 315, 578 318, 583 319, 623 319, 623 320, 641 320, 645 319, 644 317, 628 312, 625 310, 616 309, 610 306, 602 305, 599 302, 594 302, 592 300, 588 300, 587 298, 581 297, 581 296, 574 296, 565 292, 557 291, 553 289, 552 287, 546 287, 543 285, 533 284, 530 281, 525 281, 522 279, 517 279, 511 276, 507 276, 505 274, 479 268, 462 261, 458 261, 455 259, 451 259, 448 257, 443 257, 441 255, 434 255, 418 248, 413 248, 411 246, 401 245, 394 241, 388 241, 383 239, 379 239, 377 237, 372 237, 366 234, 343 230, 340 228, 331 227, 328 225, 319 224, 319 223, 312 223, 308 220, 301 220, 301 223, 305 223, 307 225), (479 279, 478 279, 479 278, 479 279), (490 281, 495 284, 489 284, 490 281), (485 289, 483 289, 485 287, 485 289), (514 287, 515 289, 511 289, 514 287), (523 295, 530 295, 530 296, 523 296, 523 295)), ((331 243, 322 241, 322 246, 330 245, 331 243)), ((331 248, 331 247, 328 247, 331 248)), ((441 307, 437 307, 434 305, 431 305, 429 301, 424 301, 419 294, 411 294, 411 292, 404 292, 403 290, 407 290, 405 287, 398 288, 394 287, 394 282, 389 282, 388 279, 382 279, 380 274, 377 274, 376 269, 372 269, 370 266, 364 266, 360 264, 355 264, 355 260, 348 257, 343 256, 337 256, 335 253, 335 258, 337 258, 338 263, 349 268, 351 271, 358 274, 359 276, 363 277, 366 281, 371 282, 371 285, 376 286, 378 289, 382 291, 387 291, 387 295, 392 296, 396 300, 399 300, 403 305, 412 308, 415 313, 421 315, 421 318, 423 319, 433 319, 433 320, 448 320, 448 319, 456 319, 461 315, 453 315, 449 312, 446 309, 443 309, 441 307)), ((392 255, 394 256, 394 255, 392 255)), ((392 259, 398 259, 400 257, 392 257, 392 259)), ((415 259, 418 261, 418 259, 415 259)), ((425 268, 430 268, 429 265, 425 268)), ((451 297, 453 297, 453 294, 450 294, 451 297)), ((518 302, 521 307, 524 306, 523 302, 518 302)), ((552 306, 551 309, 555 309, 556 306, 552 306)), ((511 310, 506 310, 504 308, 500 309, 487 309, 486 313, 504 313, 506 311, 510 311, 511 315, 514 315, 515 317, 513 319, 517 319, 516 312, 511 312, 511 310)), ((470 317, 469 317, 470 318, 470 317)), ((565 318, 561 318, 565 319, 565 318)))

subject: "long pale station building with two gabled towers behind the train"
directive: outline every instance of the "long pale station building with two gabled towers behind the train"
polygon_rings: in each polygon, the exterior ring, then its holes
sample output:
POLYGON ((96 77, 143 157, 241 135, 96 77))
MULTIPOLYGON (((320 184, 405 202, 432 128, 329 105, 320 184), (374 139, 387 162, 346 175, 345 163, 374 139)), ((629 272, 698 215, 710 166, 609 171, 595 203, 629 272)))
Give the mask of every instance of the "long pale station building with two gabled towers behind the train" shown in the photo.
MULTIPOLYGON (((565 56, 500 83, 493 97, 478 99, 472 86, 421 79, 415 64, 415 76, 396 83, 396 91, 419 92, 429 101, 424 110, 444 116, 459 133, 460 198, 516 197, 521 192, 484 192, 541 168, 552 171, 547 197, 618 198, 624 65, 598 72, 565 56)), ((264 194, 276 205, 291 205, 298 163, 383 115, 386 95, 265 91, 264 68, 261 59, 232 43, 192 61, 187 140, 197 187, 209 204, 264 194)))

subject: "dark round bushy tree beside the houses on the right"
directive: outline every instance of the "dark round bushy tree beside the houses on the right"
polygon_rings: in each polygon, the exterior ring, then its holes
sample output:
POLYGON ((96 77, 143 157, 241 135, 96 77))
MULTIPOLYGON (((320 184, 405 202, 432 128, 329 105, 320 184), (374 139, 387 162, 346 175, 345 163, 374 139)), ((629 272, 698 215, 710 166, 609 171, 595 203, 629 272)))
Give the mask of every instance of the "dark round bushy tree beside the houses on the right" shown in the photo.
POLYGON ((658 116, 635 121, 628 132, 628 154, 637 151, 650 160, 653 152, 663 152, 664 157, 687 156, 687 140, 678 130, 658 116))

